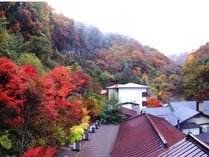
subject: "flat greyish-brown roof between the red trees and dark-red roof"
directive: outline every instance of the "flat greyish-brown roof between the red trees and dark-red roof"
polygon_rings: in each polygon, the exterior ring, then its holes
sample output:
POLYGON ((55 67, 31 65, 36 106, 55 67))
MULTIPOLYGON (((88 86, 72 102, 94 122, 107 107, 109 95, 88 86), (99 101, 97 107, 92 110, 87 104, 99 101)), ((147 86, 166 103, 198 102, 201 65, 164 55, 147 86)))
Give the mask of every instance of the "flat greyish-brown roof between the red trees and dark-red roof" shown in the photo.
POLYGON ((102 125, 96 133, 90 133, 89 141, 81 142, 81 151, 72 151, 69 144, 55 157, 110 157, 118 129, 119 125, 102 125))

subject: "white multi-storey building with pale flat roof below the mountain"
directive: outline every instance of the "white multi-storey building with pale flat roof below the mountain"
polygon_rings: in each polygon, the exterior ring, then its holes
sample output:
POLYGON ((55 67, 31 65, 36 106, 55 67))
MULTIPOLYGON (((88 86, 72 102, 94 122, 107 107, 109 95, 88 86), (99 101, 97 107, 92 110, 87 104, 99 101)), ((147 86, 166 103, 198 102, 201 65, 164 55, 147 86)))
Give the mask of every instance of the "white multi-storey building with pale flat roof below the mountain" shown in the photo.
POLYGON ((133 109, 137 106, 141 110, 147 106, 148 89, 149 86, 135 83, 115 84, 107 87, 108 99, 115 97, 124 107, 133 109))

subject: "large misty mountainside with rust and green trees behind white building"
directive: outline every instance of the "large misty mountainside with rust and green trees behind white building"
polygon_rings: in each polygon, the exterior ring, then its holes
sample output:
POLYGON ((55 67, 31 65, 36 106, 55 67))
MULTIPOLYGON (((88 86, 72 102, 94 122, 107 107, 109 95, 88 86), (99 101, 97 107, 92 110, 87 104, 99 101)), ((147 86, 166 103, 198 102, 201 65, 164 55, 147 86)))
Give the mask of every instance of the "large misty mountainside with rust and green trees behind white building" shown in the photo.
POLYGON ((104 34, 56 14, 45 2, 2 2, 0 10, 0 57, 24 65, 24 54, 35 55, 36 63, 29 63, 41 72, 60 65, 81 68, 103 88, 127 82, 150 85, 163 102, 179 94, 181 69, 133 38, 104 34))

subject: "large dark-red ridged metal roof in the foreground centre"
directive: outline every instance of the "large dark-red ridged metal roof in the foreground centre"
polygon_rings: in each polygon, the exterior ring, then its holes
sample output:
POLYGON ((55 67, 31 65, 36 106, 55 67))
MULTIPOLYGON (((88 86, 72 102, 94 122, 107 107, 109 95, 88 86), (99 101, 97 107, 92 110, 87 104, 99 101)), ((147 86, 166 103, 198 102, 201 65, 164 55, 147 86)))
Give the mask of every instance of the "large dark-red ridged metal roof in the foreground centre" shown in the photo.
POLYGON ((121 123, 112 157, 157 156, 184 137, 166 120, 143 113, 121 123))

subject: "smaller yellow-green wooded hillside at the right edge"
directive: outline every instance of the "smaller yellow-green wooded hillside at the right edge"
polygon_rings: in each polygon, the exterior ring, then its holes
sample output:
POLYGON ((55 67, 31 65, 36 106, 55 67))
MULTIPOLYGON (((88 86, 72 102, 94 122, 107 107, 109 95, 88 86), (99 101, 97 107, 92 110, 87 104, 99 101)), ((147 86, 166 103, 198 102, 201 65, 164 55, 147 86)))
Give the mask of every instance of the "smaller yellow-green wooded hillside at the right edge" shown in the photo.
POLYGON ((183 64, 183 83, 187 100, 209 98, 209 43, 191 53, 183 64))

